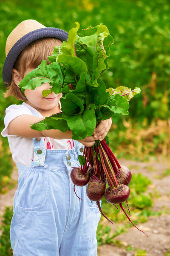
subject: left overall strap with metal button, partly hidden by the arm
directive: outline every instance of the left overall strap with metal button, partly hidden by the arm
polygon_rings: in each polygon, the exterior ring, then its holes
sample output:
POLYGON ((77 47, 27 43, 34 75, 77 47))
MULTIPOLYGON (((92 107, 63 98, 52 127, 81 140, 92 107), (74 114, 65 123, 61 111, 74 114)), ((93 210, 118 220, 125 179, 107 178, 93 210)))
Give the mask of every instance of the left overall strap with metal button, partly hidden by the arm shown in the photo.
MULTIPOLYGON (((30 109, 32 116, 39 116, 38 113, 30 109)), ((44 166, 46 147, 44 146, 44 138, 33 138, 33 148, 34 148, 34 161, 32 166, 44 166)))

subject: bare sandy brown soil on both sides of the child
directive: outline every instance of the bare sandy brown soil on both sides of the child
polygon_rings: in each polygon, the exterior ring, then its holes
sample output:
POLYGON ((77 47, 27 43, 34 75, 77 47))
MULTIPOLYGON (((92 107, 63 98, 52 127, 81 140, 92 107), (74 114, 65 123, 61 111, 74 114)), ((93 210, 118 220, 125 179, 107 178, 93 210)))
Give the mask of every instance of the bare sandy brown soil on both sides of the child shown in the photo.
MULTIPOLYGON (((170 210, 170 175, 164 177, 162 173, 166 169, 170 169, 170 161, 159 157, 157 160, 150 160, 149 162, 139 162, 132 160, 119 160, 121 165, 131 166, 130 170, 133 173, 142 173, 149 177, 152 184, 149 186, 150 192, 153 189, 159 191, 160 197, 155 199, 152 209, 159 211, 161 209, 170 210), (138 168, 136 168, 138 166, 138 168), (157 177, 161 176, 160 179, 157 177), (162 208, 163 207, 163 208, 162 208)), ((18 174, 16 168, 12 175, 14 180, 17 180, 18 174)), ((0 224, 4 209, 6 206, 13 204, 14 192, 17 186, 9 190, 5 195, 0 195, 0 224)), ((116 229, 116 224, 112 225, 108 221, 106 225, 111 226, 112 231, 116 229)), ((142 229, 147 235, 136 230, 135 227, 130 227, 127 233, 116 237, 123 246, 118 247, 114 244, 103 244, 98 248, 99 256, 134 256, 135 250, 126 251, 125 246, 131 245, 132 248, 139 248, 146 250, 147 256, 164 256, 170 248, 170 215, 162 214, 157 217, 149 217, 148 221, 143 224, 138 224, 137 227, 142 229)), ((142 256, 142 254, 141 254, 142 256)), ((145 254, 143 254, 145 256, 145 254)))

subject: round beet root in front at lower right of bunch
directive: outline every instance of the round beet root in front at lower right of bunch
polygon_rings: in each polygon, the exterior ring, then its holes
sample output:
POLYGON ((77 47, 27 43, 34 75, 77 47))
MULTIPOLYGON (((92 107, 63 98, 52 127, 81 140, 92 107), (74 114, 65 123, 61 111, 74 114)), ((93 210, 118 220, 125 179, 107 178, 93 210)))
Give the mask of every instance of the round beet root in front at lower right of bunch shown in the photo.
POLYGON ((108 187, 105 192, 105 199, 112 204, 121 204, 127 200, 130 189, 125 184, 119 184, 118 188, 108 187))

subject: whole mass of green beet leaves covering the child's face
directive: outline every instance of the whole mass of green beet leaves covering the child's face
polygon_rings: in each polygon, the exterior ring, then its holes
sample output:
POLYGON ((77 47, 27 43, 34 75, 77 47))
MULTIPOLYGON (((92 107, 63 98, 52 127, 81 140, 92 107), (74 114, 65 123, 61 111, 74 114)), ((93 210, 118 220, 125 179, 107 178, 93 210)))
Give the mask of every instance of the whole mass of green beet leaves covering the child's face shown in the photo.
POLYGON ((42 83, 50 83, 50 90, 43 90, 44 97, 49 93, 62 93, 61 113, 45 117, 44 120, 31 125, 32 129, 59 129, 62 132, 71 130, 74 140, 91 136, 96 125, 115 113, 128 115, 129 100, 139 88, 131 90, 127 87, 109 88, 99 78, 108 69, 107 58, 113 38, 108 28, 97 25, 80 32, 79 23, 68 33, 68 40, 54 51, 47 61, 28 73, 19 86, 34 90, 42 83))

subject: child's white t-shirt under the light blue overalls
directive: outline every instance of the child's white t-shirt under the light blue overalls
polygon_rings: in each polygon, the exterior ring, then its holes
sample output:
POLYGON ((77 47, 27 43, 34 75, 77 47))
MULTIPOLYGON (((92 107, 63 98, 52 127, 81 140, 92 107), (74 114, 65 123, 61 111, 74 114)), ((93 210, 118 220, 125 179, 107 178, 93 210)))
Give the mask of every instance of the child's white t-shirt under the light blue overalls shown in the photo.
MULTIPOLYGON (((59 102, 60 103, 60 102, 59 102)), ((8 137, 9 148, 12 154, 12 159, 15 163, 19 163, 24 166, 31 166, 34 159, 34 148, 32 138, 20 137, 17 135, 8 134, 9 123, 21 115, 31 115, 31 110, 37 113, 37 116, 43 117, 42 114, 35 108, 23 102, 22 105, 11 105, 6 108, 6 116, 4 118, 5 128, 1 132, 3 137, 8 137)), ((55 140, 52 138, 44 137, 44 145, 48 149, 71 149, 74 147, 74 141, 71 140, 55 140)))

